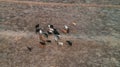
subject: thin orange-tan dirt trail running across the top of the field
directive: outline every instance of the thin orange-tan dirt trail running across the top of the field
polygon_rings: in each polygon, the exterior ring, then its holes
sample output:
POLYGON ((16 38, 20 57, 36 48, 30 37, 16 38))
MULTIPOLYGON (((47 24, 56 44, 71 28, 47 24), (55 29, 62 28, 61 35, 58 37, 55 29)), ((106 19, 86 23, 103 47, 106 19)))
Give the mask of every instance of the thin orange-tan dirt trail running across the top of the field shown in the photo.
POLYGON ((45 6, 82 6, 82 7, 113 7, 120 8, 120 5, 97 5, 97 4, 70 4, 70 3, 45 3, 33 1, 16 1, 16 0, 0 0, 0 2, 24 3, 29 5, 45 5, 45 6))

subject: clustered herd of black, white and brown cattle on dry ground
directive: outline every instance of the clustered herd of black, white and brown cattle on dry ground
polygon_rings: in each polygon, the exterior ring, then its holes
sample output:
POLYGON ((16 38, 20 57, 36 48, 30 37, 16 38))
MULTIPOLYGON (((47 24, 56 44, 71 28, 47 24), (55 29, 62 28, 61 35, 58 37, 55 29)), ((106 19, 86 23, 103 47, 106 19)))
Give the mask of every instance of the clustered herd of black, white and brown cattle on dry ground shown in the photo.
MULTIPOLYGON (((47 45, 47 43, 52 43, 52 41, 55 41, 57 45, 63 46, 64 42, 61 41, 61 34, 53 25, 49 24, 47 27, 47 30, 44 30, 43 28, 40 28, 40 25, 35 25, 35 32, 39 37, 39 43, 42 46, 47 45), (50 39, 49 36, 53 36, 53 39, 50 39)), ((65 34, 69 34, 69 27, 67 25, 64 25, 64 28, 60 30, 61 32, 65 34)), ((65 41, 69 46, 72 46, 72 42, 70 40, 65 41)))

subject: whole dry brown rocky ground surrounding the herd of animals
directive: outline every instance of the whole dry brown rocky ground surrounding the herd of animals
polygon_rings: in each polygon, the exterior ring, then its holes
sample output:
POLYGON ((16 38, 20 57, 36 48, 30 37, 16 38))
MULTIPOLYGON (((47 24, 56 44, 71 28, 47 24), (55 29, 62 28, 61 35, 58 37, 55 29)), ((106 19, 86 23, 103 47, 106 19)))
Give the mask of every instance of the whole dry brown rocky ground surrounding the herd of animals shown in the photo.
POLYGON ((102 6, 82 0, 82 5, 41 1, 0 1, 1 67, 120 67, 119 1, 106 1, 111 6, 102 0, 98 2, 102 6), (38 23, 45 30, 48 24, 57 29, 67 24, 70 34, 61 34, 64 46, 58 46, 51 36, 52 43, 41 48, 34 32, 38 23))

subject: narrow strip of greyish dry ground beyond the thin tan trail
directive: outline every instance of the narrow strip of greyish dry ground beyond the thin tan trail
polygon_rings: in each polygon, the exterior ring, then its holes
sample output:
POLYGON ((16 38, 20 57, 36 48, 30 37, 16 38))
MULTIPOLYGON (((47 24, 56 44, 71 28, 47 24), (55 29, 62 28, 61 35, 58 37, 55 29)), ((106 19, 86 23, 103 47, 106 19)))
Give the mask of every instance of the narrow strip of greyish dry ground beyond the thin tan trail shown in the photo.
POLYGON ((84 3, 84 4, 113 4, 120 5, 119 0, 17 0, 17 1, 33 1, 33 2, 52 2, 52 3, 84 3))

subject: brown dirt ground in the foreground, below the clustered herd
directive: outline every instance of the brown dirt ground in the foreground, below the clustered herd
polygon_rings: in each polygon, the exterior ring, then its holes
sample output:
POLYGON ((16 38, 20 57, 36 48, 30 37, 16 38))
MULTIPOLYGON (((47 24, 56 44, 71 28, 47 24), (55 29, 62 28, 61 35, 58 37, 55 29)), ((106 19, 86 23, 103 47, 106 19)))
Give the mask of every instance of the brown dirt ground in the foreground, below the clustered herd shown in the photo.
POLYGON ((30 32, 6 31, 0 34, 2 67, 119 66, 119 47, 107 42, 68 36, 62 41, 71 40, 73 42, 71 47, 66 43, 59 46, 52 40, 51 44, 41 48, 36 34, 28 33, 30 32), (30 52, 27 47, 32 47, 32 51, 30 52))

